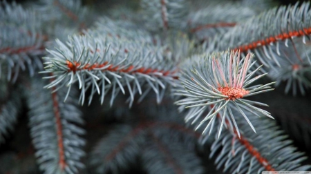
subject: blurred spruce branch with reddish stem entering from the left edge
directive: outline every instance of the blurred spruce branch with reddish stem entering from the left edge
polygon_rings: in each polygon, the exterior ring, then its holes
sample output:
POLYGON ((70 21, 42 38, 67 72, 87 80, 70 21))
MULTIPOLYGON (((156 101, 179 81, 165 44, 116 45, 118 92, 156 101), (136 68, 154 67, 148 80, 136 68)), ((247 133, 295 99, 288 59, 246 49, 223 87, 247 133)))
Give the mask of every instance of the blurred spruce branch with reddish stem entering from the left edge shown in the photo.
POLYGON ((26 70, 26 66, 30 75, 37 67, 42 68, 39 56, 45 52, 46 37, 41 34, 40 25, 34 12, 16 3, 0 3, 0 70, 7 64, 8 79, 15 81, 19 70, 26 70))

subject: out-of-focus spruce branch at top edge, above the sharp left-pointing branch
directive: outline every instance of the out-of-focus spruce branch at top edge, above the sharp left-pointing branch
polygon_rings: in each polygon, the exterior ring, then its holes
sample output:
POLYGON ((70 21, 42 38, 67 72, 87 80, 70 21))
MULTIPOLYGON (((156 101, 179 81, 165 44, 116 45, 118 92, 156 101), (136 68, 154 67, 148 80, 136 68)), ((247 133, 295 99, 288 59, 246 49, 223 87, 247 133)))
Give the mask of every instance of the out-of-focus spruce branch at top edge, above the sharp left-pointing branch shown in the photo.
POLYGON ((55 39, 66 40, 68 35, 80 33, 94 21, 94 12, 87 6, 82 6, 81 0, 40 0, 30 3, 29 8, 42 21, 42 29, 49 36, 46 48, 54 48, 55 39), (48 27, 45 27, 48 26, 48 27))

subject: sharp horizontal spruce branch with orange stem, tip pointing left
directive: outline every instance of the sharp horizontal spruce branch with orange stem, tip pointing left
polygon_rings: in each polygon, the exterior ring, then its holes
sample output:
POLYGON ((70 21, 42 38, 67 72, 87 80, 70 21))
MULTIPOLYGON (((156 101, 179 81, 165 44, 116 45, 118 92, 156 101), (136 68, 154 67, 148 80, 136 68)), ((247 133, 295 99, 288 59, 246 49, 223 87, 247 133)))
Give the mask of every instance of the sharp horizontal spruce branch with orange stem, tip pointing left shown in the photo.
POLYGON ((100 39, 91 35, 73 36, 66 44, 57 41, 57 50, 48 50, 50 57, 45 58, 45 72, 54 74, 47 78, 56 77, 46 87, 66 84, 69 93, 71 86, 78 81, 81 89, 79 101, 82 104, 88 88, 91 88, 88 104, 91 104, 95 93, 101 95, 103 103, 109 89, 113 93, 112 104, 120 90, 125 93, 123 86, 129 90, 130 106, 136 93, 144 97, 149 90, 157 94, 160 102, 167 84, 174 85, 177 79, 176 65, 163 56, 161 48, 142 44, 115 40, 105 35, 100 39), (147 90, 142 93, 144 85, 147 90))

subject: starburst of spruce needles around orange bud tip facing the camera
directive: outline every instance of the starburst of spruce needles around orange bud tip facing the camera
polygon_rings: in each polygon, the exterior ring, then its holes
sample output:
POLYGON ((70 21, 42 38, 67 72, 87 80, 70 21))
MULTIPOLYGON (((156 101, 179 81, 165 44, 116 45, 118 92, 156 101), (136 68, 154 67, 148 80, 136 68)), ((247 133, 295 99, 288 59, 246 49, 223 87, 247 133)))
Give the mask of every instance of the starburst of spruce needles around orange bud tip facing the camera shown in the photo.
POLYGON ((198 129, 209 120, 203 133, 207 130, 211 133, 218 117, 221 120, 219 137, 224 124, 231 125, 229 127, 235 128, 240 136, 234 117, 242 115, 255 133, 255 128, 247 117, 266 115, 273 119, 266 110, 254 106, 267 106, 266 104, 244 99, 273 90, 270 85, 274 82, 249 86, 266 75, 254 76, 261 66, 254 67, 256 61, 252 61, 253 57, 254 55, 250 53, 241 57, 239 51, 232 50, 211 55, 195 55, 189 60, 193 62, 192 64, 186 62, 180 77, 184 88, 175 93, 185 97, 176 101, 176 104, 189 108, 185 117, 186 122, 189 120, 193 120, 192 124, 200 122, 196 127, 198 129), (241 115, 233 115, 233 110, 238 110, 241 115), (245 115, 245 110, 252 115, 245 115))

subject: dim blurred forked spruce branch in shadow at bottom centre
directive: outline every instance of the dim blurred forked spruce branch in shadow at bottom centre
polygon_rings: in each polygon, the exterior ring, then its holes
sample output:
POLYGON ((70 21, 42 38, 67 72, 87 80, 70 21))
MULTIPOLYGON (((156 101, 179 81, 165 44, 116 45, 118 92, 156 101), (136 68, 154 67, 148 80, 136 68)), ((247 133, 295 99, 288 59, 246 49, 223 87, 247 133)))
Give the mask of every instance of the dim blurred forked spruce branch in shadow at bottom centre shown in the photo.
MULTIPOLYGON (((196 139, 200 134, 183 125, 176 112, 176 106, 171 104, 171 99, 165 98, 163 103, 156 107, 154 103, 154 97, 148 95, 145 102, 135 104, 131 109, 125 108, 125 113, 131 113, 132 118, 123 118, 126 125, 117 124, 100 140, 91 155, 93 165, 98 168, 116 169, 117 171, 111 171, 113 173, 122 173, 137 165, 142 165, 143 171, 151 173, 160 170, 161 167, 171 173, 188 173, 190 168, 200 163, 194 153, 196 139), (152 157, 147 157, 149 152, 152 157), (194 161, 187 161, 187 157, 194 161)), ((196 166, 196 169, 202 171, 200 166, 196 166)))

